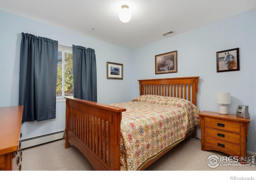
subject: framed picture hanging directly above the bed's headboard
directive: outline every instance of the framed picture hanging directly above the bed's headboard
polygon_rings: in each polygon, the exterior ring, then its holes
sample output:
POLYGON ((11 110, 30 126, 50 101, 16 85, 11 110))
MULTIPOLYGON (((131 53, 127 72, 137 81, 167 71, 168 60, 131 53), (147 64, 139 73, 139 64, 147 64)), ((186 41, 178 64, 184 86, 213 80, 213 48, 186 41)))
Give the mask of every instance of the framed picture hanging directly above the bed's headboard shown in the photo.
POLYGON ((156 74, 177 72, 177 51, 159 54, 156 59, 156 74))

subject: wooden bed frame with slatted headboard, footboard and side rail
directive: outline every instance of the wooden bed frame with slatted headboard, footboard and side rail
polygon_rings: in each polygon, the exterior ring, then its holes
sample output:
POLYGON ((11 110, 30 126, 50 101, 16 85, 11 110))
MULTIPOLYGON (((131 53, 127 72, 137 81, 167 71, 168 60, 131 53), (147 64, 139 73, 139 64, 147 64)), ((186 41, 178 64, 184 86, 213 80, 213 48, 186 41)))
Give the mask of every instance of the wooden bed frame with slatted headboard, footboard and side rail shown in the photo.
MULTIPOLYGON (((196 105, 199 77, 139 80, 140 95, 153 94, 187 99, 196 105)), ((66 98, 65 148, 78 148, 95 170, 120 170, 120 122, 125 108, 78 98, 66 98)), ((195 130, 191 130, 190 135, 195 130)), ((173 148, 173 147, 172 147, 173 148)), ((150 160, 145 169, 163 154, 150 160)))

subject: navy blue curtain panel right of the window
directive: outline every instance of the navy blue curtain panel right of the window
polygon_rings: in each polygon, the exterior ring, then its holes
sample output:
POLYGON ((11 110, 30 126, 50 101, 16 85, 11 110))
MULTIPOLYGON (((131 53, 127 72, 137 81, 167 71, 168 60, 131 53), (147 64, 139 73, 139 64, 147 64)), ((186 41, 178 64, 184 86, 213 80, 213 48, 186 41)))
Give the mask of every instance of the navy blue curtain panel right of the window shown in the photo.
POLYGON ((97 102, 94 49, 73 45, 74 98, 97 102))

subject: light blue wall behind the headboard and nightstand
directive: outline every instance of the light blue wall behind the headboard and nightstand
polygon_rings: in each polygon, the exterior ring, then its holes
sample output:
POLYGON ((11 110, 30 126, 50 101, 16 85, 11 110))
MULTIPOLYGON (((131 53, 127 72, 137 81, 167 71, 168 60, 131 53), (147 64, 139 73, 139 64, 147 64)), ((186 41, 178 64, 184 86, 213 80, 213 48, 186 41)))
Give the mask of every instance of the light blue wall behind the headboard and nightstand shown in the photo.
MULTIPOLYGON (((247 150, 256 152, 256 9, 231 18, 167 38, 132 52, 133 93, 138 94, 138 79, 200 76, 197 106, 200 111, 219 111, 217 92, 230 92, 228 113, 236 114, 239 104, 249 106, 247 150), (217 72, 216 52, 239 48, 240 70, 217 72), (155 55, 178 52, 178 72, 155 74, 155 55)), ((198 130, 200 136, 200 129, 198 130)))

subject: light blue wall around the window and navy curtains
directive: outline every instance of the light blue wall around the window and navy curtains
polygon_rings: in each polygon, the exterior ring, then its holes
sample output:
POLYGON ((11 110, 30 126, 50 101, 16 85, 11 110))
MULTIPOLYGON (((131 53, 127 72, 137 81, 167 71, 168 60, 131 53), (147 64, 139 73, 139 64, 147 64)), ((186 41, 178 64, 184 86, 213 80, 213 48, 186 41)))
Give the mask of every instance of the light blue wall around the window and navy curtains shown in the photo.
MULTIPOLYGON (((18 105, 22 32, 57 40, 61 45, 93 48, 96 54, 98 102, 109 104, 133 98, 130 92, 132 79, 129 77, 131 50, 0 11, 0 107, 18 105), (123 64, 124 79, 107 80, 106 62, 123 64)), ((56 119, 23 123, 22 139, 59 132, 64 128, 65 102, 57 102, 56 119)))

